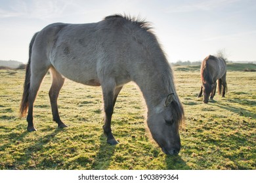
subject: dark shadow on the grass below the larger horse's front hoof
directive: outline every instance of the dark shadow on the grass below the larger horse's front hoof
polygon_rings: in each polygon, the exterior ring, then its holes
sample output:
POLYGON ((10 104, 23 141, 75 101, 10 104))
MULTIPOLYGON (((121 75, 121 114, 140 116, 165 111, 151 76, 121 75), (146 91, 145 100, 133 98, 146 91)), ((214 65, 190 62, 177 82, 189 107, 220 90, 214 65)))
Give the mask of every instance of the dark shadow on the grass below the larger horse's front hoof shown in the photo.
POLYGON ((114 156, 116 146, 112 146, 106 142, 106 136, 100 136, 100 148, 95 157, 95 162, 91 166, 93 170, 107 170, 110 167, 112 156, 114 156))

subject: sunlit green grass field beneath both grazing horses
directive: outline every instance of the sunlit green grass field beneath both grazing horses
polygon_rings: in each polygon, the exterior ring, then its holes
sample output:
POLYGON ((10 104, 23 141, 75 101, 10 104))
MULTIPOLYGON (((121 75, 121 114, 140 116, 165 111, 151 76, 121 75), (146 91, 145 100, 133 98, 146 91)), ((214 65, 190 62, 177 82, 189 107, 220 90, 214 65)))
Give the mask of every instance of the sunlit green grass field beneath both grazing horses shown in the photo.
POLYGON ((110 146, 100 88, 66 80, 58 105, 69 127, 57 129, 47 75, 35 101, 37 131, 28 133, 26 119, 18 117, 25 73, 1 70, 0 169, 256 169, 256 72, 246 69, 256 65, 229 64, 226 97, 206 105, 196 97, 200 66, 174 67, 186 116, 179 156, 166 156, 150 137, 144 99, 133 83, 117 98, 112 129, 119 144, 110 146))

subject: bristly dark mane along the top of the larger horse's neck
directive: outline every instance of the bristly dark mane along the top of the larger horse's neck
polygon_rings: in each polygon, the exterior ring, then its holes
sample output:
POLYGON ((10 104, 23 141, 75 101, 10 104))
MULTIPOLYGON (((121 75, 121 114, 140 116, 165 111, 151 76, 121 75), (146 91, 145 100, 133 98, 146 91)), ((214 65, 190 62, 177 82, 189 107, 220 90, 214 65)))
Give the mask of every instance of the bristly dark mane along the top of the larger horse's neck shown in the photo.
POLYGON ((106 16, 104 20, 123 20, 123 21, 129 21, 133 25, 136 25, 140 29, 143 29, 144 31, 152 31, 151 23, 147 22, 145 19, 142 19, 140 17, 134 17, 130 15, 121 15, 121 14, 114 14, 110 16, 106 16))

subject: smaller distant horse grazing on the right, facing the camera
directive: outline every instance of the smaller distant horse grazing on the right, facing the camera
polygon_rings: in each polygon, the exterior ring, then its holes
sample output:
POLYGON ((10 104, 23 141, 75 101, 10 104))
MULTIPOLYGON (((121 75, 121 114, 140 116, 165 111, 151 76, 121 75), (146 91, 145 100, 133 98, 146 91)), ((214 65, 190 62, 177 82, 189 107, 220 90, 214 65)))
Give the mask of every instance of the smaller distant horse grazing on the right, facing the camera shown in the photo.
POLYGON ((202 86, 198 97, 202 96, 203 93, 203 103, 208 103, 209 96, 212 100, 215 93, 218 80, 218 92, 219 95, 225 97, 227 90, 226 86, 226 61, 223 58, 217 58, 215 56, 207 56, 201 65, 201 80, 202 86), (223 88, 222 88, 223 86, 223 88))

